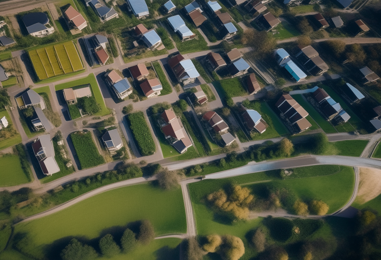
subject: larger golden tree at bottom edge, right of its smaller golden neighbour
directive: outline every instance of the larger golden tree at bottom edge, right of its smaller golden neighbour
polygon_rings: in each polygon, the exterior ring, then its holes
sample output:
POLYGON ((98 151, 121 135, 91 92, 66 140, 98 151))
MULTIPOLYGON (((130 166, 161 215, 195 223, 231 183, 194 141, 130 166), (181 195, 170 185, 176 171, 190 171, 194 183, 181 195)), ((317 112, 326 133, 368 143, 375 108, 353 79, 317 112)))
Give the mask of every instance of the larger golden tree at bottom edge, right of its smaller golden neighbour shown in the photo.
POLYGON ((245 246, 240 238, 226 235, 223 237, 223 245, 219 253, 225 260, 238 260, 245 254, 245 246))

